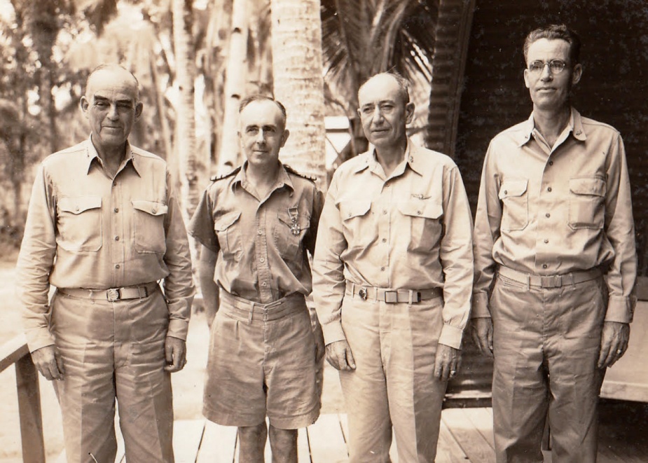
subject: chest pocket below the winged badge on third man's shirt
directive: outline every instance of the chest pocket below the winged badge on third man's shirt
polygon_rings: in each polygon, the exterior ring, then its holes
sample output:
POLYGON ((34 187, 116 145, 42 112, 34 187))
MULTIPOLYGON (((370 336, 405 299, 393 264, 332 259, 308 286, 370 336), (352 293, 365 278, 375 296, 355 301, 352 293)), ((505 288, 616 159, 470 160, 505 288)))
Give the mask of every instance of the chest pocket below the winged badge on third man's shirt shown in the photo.
POLYGON ((431 200, 415 200, 400 202, 398 208, 406 216, 403 224, 409 228, 408 251, 429 252, 439 243, 443 235, 443 206, 431 200))

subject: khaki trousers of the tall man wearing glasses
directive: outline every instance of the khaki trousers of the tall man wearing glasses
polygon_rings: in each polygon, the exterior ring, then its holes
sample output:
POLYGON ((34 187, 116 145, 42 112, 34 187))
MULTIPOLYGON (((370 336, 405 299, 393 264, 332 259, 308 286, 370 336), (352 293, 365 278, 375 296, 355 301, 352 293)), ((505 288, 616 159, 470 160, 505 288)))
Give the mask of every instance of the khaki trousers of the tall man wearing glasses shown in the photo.
POLYGON ((547 419, 553 463, 596 461, 603 285, 540 289, 497 278, 490 300, 497 462, 542 462, 547 419))

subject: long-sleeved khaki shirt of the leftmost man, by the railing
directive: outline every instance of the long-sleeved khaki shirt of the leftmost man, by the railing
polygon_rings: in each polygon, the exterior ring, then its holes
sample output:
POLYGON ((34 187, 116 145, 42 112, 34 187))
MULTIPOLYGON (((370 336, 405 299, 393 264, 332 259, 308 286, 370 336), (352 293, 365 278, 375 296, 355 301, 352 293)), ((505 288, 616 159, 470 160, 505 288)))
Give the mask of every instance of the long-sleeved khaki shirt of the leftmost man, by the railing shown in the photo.
POLYGON ((17 265, 32 352, 54 343, 50 284, 109 289, 164 279, 167 336, 186 339, 194 286, 170 173, 158 156, 130 144, 126 153, 114 179, 90 140, 39 166, 17 265))

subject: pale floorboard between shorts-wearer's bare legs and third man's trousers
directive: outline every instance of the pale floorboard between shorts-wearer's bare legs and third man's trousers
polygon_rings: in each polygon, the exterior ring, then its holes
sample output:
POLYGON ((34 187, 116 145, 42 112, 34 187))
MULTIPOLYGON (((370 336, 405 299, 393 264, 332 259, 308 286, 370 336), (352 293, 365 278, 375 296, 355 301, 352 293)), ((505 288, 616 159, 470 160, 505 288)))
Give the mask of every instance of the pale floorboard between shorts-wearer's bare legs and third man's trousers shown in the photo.
POLYGON ((312 463, 346 463, 349 461, 340 419, 336 413, 319 415, 307 428, 312 463))

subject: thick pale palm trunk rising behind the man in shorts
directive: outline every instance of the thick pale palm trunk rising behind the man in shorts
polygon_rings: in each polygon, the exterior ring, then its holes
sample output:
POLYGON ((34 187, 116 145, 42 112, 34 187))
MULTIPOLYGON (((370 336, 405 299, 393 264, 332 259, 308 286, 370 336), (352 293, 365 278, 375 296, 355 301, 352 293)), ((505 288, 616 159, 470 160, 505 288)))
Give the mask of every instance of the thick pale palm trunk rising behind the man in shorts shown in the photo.
POLYGON ((291 136, 284 163, 326 181, 322 25, 319 0, 272 0, 275 97, 286 106, 291 136))

